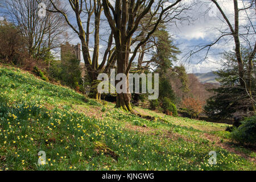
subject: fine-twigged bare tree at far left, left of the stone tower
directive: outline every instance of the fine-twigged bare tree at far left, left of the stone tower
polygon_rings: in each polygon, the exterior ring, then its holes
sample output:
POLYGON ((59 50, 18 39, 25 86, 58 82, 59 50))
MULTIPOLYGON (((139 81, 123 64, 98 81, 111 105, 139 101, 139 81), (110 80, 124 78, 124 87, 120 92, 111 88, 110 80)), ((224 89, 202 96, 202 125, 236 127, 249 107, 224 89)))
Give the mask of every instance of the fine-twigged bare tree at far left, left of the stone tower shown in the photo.
MULTIPOLYGON (((20 30, 27 43, 29 54, 38 59, 52 49, 66 41, 64 36, 67 26, 63 17, 46 12, 46 16, 39 16, 41 1, 35 0, 6 0, 6 8, 11 22, 20 30)), ((61 6, 59 0, 55 0, 61 6)), ((47 9, 53 7, 48 3, 47 9)))

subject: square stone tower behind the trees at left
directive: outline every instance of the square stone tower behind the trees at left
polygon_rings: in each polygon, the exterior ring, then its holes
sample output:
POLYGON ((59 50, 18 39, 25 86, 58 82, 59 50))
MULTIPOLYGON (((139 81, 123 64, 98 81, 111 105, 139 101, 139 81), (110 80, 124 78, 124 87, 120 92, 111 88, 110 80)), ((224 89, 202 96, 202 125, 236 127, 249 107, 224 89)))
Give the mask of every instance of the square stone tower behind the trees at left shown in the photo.
POLYGON ((67 57, 74 56, 76 59, 81 60, 81 44, 71 45, 68 42, 60 46, 61 61, 67 57))

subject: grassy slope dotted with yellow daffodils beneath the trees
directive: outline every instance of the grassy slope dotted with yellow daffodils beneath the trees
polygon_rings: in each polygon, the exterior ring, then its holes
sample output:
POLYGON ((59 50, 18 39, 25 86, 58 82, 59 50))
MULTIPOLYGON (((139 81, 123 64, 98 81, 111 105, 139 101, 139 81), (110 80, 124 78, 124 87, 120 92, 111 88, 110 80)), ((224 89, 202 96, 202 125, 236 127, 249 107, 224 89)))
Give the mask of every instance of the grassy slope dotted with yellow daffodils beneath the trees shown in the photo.
POLYGON ((224 124, 136 108, 168 122, 148 121, 1 65, 0 93, 2 170, 256 169, 255 152, 228 144, 224 124), (208 164, 209 151, 217 152, 216 165, 208 164))

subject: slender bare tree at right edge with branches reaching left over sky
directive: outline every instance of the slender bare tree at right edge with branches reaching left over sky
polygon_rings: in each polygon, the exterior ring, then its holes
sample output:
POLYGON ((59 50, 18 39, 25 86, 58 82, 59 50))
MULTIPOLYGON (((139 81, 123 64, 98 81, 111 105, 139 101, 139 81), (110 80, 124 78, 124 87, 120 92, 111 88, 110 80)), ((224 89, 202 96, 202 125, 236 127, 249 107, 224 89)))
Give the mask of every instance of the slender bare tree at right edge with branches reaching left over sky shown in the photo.
MULTIPOLYGON (((191 57, 192 55, 195 55, 197 52, 202 51, 203 49, 207 49, 207 53, 205 55, 205 59, 207 59, 208 52, 211 47, 213 47, 215 44, 218 42, 221 42, 222 39, 225 37, 231 36, 233 39, 233 43, 235 46, 235 52, 236 52, 236 59, 237 59, 237 65, 238 65, 238 76, 240 80, 240 86, 242 89, 245 89, 246 92, 251 96, 251 81, 252 81, 252 75, 253 75, 253 59, 255 58, 255 53, 256 53, 256 42, 255 42, 255 25, 253 24, 253 21, 256 18, 255 14, 255 0, 248 1, 249 4, 245 5, 243 3, 243 8, 238 8, 238 0, 233 0, 233 10, 234 10, 234 16, 228 16, 223 10, 223 8, 220 5, 220 2, 216 0, 209 0, 210 2, 214 3, 214 5, 217 7, 218 11, 220 12, 222 16, 222 21, 226 24, 226 30, 218 30, 220 32, 220 36, 216 38, 212 43, 201 47, 200 49, 197 49, 196 51, 191 51, 188 53, 188 57, 191 57), (249 15, 248 11, 251 11, 249 15), (244 13, 246 16, 243 17, 249 22, 246 25, 241 25, 240 24, 240 15, 241 13, 244 13), (232 23, 234 22, 234 23, 232 23), (242 59, 241 55, 241 46, 242 46, 242 41, 247 44, 251 48, 251 53, 249 56, 249 69, 247 69, 247 74, 249 75, 245 79, 245 66, 244 66, 244 60, 242 59)), ((255 109, 255 107, 254 107, 255 109)))

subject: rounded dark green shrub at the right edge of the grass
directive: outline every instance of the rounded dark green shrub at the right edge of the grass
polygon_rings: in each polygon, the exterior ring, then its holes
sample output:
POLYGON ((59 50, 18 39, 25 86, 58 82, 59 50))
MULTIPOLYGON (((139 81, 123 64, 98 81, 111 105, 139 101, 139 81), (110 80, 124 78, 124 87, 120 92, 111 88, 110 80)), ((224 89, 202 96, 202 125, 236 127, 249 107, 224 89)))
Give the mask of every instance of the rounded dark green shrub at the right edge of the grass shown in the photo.
POLYGON ((240 144, 256 144, 256 115, 245 118, 237 129, 231 133, 231 138, 240 144))

